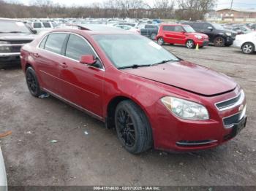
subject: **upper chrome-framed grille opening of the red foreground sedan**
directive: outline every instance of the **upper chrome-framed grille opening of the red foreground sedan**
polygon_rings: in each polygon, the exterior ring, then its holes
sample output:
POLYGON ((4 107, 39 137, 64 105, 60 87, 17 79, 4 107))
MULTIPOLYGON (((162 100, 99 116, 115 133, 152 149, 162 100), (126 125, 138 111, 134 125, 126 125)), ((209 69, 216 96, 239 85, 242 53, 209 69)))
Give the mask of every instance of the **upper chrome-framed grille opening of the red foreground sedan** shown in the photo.
POLYGON ((236 96, 235 98, 230 98, 228 100, 219 102, 215 104, 215 106, 217 106, 217 109, 219 109, 219 111, 231 109, 233 107, 243 104, 244 98, 245 98, 244 91, 241 90, 241 93, 239 93, 239 95, 236 96))

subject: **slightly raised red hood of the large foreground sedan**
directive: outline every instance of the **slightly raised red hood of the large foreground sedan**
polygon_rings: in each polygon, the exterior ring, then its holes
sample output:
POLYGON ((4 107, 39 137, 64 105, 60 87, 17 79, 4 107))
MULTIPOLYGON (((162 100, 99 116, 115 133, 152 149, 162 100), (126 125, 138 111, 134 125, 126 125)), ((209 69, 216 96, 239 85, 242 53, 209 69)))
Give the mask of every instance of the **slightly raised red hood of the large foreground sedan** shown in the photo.
POLYGON ((226 93, 237 86, 225 74, 187 61, 125 69, 124 72, 204 96, 226 93))

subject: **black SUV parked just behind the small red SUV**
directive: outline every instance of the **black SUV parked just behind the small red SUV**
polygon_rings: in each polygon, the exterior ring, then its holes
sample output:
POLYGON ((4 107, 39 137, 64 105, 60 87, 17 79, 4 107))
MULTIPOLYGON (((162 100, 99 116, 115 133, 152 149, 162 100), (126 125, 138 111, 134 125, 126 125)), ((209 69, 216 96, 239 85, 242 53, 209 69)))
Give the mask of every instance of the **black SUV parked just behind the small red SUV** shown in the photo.
POLYGON ((207 34, 209 42, 213 43, 216 47, 230 46, 236 39, 236 31, 227 30, 216 23, 183 22, 183 24, 192 26, 197 32, 207 34))

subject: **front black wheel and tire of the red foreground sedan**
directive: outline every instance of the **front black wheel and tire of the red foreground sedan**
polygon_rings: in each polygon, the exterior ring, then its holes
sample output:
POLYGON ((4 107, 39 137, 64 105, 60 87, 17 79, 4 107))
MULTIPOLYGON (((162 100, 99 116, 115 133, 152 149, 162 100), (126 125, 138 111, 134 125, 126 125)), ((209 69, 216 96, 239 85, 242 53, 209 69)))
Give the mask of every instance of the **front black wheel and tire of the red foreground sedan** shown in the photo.
POLYGON ((115 112, 116 132, 119 141, 132 154, 145 152, 152 147, 151 126, 143 110, 132 101, 121 101, 115 112))

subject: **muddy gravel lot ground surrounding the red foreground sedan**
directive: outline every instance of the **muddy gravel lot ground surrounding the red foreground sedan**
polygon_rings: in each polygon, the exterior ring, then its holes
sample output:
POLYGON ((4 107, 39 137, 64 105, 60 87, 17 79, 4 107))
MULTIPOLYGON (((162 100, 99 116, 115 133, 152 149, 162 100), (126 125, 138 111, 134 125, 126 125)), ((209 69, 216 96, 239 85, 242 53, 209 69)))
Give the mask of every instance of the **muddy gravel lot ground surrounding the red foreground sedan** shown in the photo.
POLYGON ((56 98, 34 98, 23 71, 0 70, 0 127, 7 179, 15 185, 255 185, 256 55, 233 47, 165 46, 184 60, 217 70, 244 88, 246 128, 216 149, 150 150, 131 155, 114 130, 56 98), (56 141, 53 141, 56 140, 56 141))

